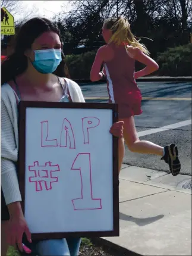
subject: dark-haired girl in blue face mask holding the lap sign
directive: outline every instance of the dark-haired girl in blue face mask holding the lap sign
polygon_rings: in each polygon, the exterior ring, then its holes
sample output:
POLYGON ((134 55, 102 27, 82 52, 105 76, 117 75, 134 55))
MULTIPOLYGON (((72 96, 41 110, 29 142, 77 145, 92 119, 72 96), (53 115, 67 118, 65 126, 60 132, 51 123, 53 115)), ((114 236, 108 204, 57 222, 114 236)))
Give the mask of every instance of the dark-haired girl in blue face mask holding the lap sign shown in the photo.
MULTIPOLYGON (((17 180, 17 105, 20 100, 84 102, 77 83, 63 78, 64 65, 58 27, 46 18, 33 18, 21 27, 14 53, 1 66, 1 255, 6 255, 8 245, 23 251, 24 234, 32 242, 17 180)), ((122 138, 122 124, 115 123, 110 132, 122 138)), ((80 242, 52 239, 34 245, 38 255, 78 255, 80 242)))

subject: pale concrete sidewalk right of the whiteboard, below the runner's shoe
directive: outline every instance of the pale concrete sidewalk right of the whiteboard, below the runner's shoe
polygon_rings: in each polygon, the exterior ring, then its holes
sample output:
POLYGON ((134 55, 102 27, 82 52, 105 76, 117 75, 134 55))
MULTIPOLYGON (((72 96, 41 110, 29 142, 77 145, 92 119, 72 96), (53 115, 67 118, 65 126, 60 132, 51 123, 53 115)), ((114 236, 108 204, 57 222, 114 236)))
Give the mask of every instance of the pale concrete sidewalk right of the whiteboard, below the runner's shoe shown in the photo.
POLYGON ((120 236, 103 242, 140 255, 191 255, 191 176, 124 165, 119 181, 120 236))

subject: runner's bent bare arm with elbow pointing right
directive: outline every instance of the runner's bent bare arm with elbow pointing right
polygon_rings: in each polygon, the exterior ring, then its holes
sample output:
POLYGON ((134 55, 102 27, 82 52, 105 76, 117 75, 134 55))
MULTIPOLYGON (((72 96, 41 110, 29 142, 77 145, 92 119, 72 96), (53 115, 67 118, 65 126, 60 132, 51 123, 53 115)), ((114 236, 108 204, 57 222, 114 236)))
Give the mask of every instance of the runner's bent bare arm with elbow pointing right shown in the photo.
POLYGON ((147 74, 153 73, 159 68, 159 65, 155 62, 155 60, 153 60, 152 58, 144 54, 139 48, 133 49, 133 58, 139 61, 140 63, 143 63, 146 65, 145 68, 143 68, 140 71, 137 71, 134 74, 135 79, 141 76, 146 76, 147 74))

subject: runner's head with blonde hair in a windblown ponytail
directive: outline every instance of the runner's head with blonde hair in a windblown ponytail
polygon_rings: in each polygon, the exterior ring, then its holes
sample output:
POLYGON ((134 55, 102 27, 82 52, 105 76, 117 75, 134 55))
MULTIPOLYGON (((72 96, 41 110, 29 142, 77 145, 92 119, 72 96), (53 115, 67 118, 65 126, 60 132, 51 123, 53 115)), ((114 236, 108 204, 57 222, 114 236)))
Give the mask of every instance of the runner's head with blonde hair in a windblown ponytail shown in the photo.
MULTIPOLYGON (((149 51, 143 43, 140 43, 140 39, 137 40, 130 29, 130 23, 127 18, 119 16, 118 18, 108 18, 104 21, 106 29, 112 31, 112 37, 109 43, 114 42, 117 45, 131 45, 139 48, 144 54, 149 55, 149 51)), ((127 48, 127 47, 126 47, 127 48)))

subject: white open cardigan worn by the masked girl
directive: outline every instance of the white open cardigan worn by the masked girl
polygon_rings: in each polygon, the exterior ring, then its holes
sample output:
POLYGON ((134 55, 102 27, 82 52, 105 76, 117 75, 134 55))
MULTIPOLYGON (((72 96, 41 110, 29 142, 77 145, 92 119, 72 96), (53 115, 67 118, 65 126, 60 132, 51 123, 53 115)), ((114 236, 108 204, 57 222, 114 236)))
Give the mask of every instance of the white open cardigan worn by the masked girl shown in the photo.
MULTIPOLYGON (((65 78, 73 102, 85 102, 80 87, 65 78)), ((17 97, 17 95, 16 95, 17 97)), ((18 97, 17 97, 18 98, 18 97)), ((19 100, 19 99, 18 99, 19 100)), ((18 160, 18 109, 15 92, 1 86, 1 186, 6 204, 21 201, 15 164, 18 160)))

